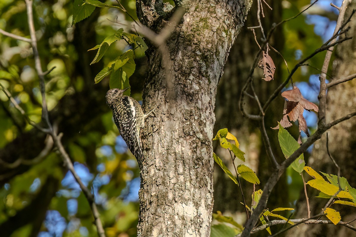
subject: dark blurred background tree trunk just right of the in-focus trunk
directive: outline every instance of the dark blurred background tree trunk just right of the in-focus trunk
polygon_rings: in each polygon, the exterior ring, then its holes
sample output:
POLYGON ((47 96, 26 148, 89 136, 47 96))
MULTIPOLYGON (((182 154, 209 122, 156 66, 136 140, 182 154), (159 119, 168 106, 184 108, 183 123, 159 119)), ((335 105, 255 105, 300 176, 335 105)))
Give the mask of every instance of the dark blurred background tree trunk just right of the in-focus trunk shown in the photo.
MULTIPOLYGON (((272 27, 274 22, 280 22, 282 20, 282 1, 267 1, 269 6, 273 10, 268 8, 264 9, 265 17, 261 18, 263 28, 267 33, 272 27)), ((241 29, 239 37, 236 39, 234 45, 231 48, 229 57, 227 58, 224 75, 221 77, 218 86, 218 92, 216 95, 215 103, 215 117, 216 123, 214 126, 214 134, 221 128, 228 128, 229 131, 237 136, 240 143, 240 149, 244 151, 246 157, 246 165, 251 167, 253 171, 257 172, 257 176, 262 182, 261 185, 257 185, 256 189, 263 187, 264 182, 267 181, 271 174, 271 163, 267 157, 265 147, 262 142, 261 133, 258 129, 258 122, 251 121, 242 116, 239 108, 239 98, 241 95, 242 86, 245 84, 248 73, 250 72, 251 65, 255 59, 256 53, 259 48, 255 43, 253 33, 247 27, 257 26, 257 1, 254 1, 250 11, 248 12, 244 27, 241 29)), ((282 27, 275 29, 272 38, 269 43, 277 50, 282 50, 284 45, 284 36, 282 27)), ((260 39, 261 31, 256 29, 256 38, 260 39)), ((257 68, 255 70, 255 91, 260 98, 261 102, 265 102, 269 95, 276 89, 276 87, 282 82, 282 68, 284 66, 281 56, 271 50, 269 52, 276 65, 276 72, 274 74, 274 81, 266 82, 262 80, 263 70, 257 68)), ((259 113, 258 106, 255 101, 245 97, 247 102, 245 103, 245 109, 254 114, 259 113)), ((272 149, 277 155, 277 158, 284 159, 284 156, 279 147, 276 131, 270 129, 270 127, 277 124, 277 120, 281 117, 281 112, 273 108, 283 108, 283 99, 278 97, 273 102, 271 108, 268 110, 266 118, 266 127, 269 137, 273 140, 272 149)), ((230 170, 234 170, 231 164, 231 158, 226 149, 220 148, 218 142, 214 143, 215 153, 225 162, 230 170), (216 146, 216 147, 215 147, 216 146)), ((279 160, 283 161, 283 160, 279 160)), ((237 161, 238 162, 238 161, 237 161)), ((251 204, 251 194, 253 187, 250 183, 242 180, 242 187, 244 188, 245 199, 247 205, 251 204)), ((281 181, 277 184, 278 187, 275 190, 276 194, 271 195, 269 199, 269 208, 273 208, 274 205, 284 206, 286 204, 287 192, 280 192, 279 190, 286 189, 285 179, 281 178, 281 181), (278 192, 278 194, 277 194, 278 192)), ((224 214, 230 212, 235 214, 241 213, 241 217, 245 218, 244 206, 241 205, 241 194, 238 187, 231 179, 225 174, 225 172, 217 165, 214 167, 214 212, 222 211, 224 214)), ((227 214, 229 215, 229 214, 227 214)), ((239 215, 238 215, 239 216, 239 215)), ((242 222, 243 220, 241 220, 242 222)), ((240 222, 240 223, 241 223, 240 222)))

